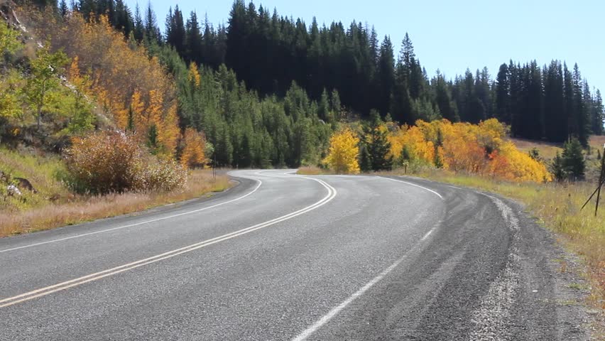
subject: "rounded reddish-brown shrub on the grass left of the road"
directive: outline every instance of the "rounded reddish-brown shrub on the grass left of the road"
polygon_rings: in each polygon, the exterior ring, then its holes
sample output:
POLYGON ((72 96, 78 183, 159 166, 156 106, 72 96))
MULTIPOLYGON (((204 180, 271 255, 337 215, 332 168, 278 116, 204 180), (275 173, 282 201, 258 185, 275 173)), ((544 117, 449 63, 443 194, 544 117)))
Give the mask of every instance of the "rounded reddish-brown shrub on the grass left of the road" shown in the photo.
POLYGON ((65 161, 70 185, 78 192, 176 190, 187 178, 177 163, 148 155, 134 136, 121 131, 74 139, 65 161))

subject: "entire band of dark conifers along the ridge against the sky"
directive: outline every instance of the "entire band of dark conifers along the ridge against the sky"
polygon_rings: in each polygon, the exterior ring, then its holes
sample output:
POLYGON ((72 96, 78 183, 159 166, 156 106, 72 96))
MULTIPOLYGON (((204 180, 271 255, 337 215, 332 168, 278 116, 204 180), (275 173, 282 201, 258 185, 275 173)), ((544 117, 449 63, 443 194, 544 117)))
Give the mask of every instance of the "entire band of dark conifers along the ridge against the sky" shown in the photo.
MULTIPOLYGON (((38 0, 38 2, 49 2, 38 0)), ((50 1, 53 2, 53 1, 50 1)), ((65 1, 58 5, 62 11, 65 1)), ((592 90, 574 65, 535 61, 501 65, 494 80, 488 69, 446 79, 429 77, 406 34, 397 43, 379 40, 374 28, 353 22, 310 26, 301 19, 278 15, 263 6, 236 0, 228 26, 214 28, 197 13, 188 16, 175 6, 160 34, 151 4, 134 13, 122 0, 80 0, 73 9, 109 16, 125 36, 150 47, 171 45, 187 62, 221 65, 259 97, 283 97, 296 82, 311 100, 337 90, 342 105, 361 117, 376 109, 403 124, 430 121, 479 121, 497 118, 511 126, 513 136, 562 142, 577 137, 586 146, 589 134, 603 134, 604 109, 599 90, 592 90)))

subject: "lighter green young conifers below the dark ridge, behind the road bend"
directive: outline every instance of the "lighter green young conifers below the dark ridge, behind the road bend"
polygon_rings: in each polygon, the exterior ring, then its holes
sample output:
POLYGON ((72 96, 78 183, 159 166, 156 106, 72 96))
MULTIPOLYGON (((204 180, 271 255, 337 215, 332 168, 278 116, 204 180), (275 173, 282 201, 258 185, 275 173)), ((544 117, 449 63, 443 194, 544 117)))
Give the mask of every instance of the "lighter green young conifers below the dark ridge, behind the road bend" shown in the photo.
POLYGON ((261 99, 224 65, 187 67, 173 48, 156 49, 175 75, 181 123, 205 132, 217 166, 298 167, 325 156, 340 111, 338 92, 315 102, 293 82, 283 99, 261 99))

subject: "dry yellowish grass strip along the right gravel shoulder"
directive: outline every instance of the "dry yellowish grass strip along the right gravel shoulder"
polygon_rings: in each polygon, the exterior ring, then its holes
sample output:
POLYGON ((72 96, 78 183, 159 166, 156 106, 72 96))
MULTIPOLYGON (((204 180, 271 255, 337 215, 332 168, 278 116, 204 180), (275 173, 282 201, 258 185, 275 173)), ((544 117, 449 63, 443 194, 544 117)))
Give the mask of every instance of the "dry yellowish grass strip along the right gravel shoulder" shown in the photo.
MULTIPOLYGON (((589 183, 510 183, 445 171, 425 170, 423 178, 499 193, 525 203, 540 223, 552 229, 569 249, 582 256, 593 283, 589 301, 605 310, 605 202, 594 215, 594 201, 580 210, 596 185, 589 183)), ((605 201, 605 200, 604 200, 605 201)))

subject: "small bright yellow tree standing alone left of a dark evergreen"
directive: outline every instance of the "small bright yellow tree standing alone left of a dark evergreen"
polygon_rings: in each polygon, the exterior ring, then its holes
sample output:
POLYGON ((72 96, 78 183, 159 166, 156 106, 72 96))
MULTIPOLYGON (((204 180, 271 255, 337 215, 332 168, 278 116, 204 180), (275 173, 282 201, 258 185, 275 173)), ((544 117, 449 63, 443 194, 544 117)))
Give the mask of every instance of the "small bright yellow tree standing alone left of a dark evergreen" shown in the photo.
POLYGON ((339 174, 359 173, 359 139, 351 129, 343 129, 329 140, 329 153, 324 162, 339 174))

